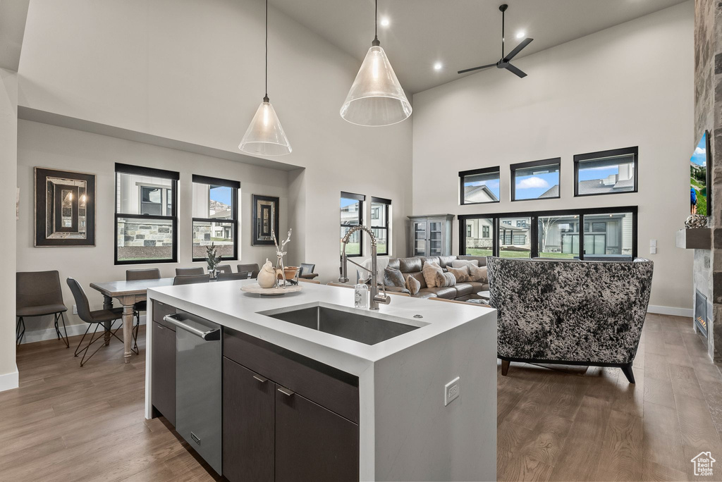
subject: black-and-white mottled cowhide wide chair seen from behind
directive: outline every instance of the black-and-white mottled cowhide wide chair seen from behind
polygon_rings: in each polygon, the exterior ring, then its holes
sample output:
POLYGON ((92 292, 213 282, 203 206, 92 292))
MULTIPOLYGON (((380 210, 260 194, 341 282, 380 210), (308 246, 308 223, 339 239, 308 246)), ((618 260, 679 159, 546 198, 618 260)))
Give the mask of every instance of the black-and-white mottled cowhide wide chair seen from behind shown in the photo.
POLYGON ((509 362, 619 367, 634 383, 653 263, 487 258, 497 356, 509 362))

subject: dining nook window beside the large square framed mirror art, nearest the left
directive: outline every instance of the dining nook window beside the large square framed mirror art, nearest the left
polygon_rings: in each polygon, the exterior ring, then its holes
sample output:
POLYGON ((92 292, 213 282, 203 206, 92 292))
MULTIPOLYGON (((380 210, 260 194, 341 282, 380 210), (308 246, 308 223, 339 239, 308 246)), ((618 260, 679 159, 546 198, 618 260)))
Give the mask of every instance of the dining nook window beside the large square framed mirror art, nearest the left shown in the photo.
POLYGON ((178 178, 116 163, 116 264, 178 261, 178 178))

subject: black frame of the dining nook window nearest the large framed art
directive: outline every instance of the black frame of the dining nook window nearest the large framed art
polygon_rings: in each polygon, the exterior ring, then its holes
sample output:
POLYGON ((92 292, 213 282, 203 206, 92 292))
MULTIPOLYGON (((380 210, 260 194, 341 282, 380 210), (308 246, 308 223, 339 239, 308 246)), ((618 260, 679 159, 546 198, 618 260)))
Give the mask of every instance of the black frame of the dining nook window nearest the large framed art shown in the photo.
MULTIPOLYGON (((115 226, 113 232, 115 234, 115 242, 113 243, 113 258, 116 265, 131 264, 161 264, 161 263, 178 263, 178 181, 181 179, 181 173, 165 169, 156 169, 154 167, 134 166, 116 162, 116 170, 114 173, 115 193, 113 200, 115 204, 115 226), (173 193, 172 214, 170 216, 154 215, 154 214, 125 214, 118 212, 118 174, 140 175, 150 178, 163 178, 172 181, 171 191, 173 193), (171 221, 171 229, 173 230, 173 247, 171 249, 173 255, 168 259, 149 259, 149 260, 118 260, 118 219, 162 219, 171 221)), ((161 200, 162 201, 162 200, 161 200)), ((166 201, 167 202, 167 201, 166 201)), ((161 204, 162 206, 162 204, 161 204)), ((140 206, 138 208, 140 211, 140 206)))

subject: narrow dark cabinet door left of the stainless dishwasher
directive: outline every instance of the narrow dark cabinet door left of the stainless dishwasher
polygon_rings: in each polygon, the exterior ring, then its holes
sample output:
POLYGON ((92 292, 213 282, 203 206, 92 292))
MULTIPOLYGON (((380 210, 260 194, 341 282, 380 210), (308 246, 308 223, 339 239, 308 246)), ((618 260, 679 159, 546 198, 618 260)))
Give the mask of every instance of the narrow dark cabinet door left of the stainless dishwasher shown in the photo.
POLYGON ((153 406, 175 426, 175 331, 155 321, 152 330, 153 406))

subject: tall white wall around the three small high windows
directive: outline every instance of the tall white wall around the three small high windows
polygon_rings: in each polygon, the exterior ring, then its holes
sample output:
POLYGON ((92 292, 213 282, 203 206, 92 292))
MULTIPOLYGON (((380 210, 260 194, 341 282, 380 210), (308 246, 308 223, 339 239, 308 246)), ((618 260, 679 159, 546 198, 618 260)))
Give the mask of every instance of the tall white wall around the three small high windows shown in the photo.
POLYGON ((639 255, 655 263, 650 304, 689 309, 692 253, 674 233, 689 214, 695 147, 693 14, 689 1, 521 58, 524 79, 490 69, 414 95, 414 214, 637 205, 639 255), (574 154, 629 146, 638 193, 573 197, 574 154), (562 197, 511 202, 509 165, 550 157, 562 158, 562 197), (502 202, 460 206, 458 171, 495 165, 502 202))

